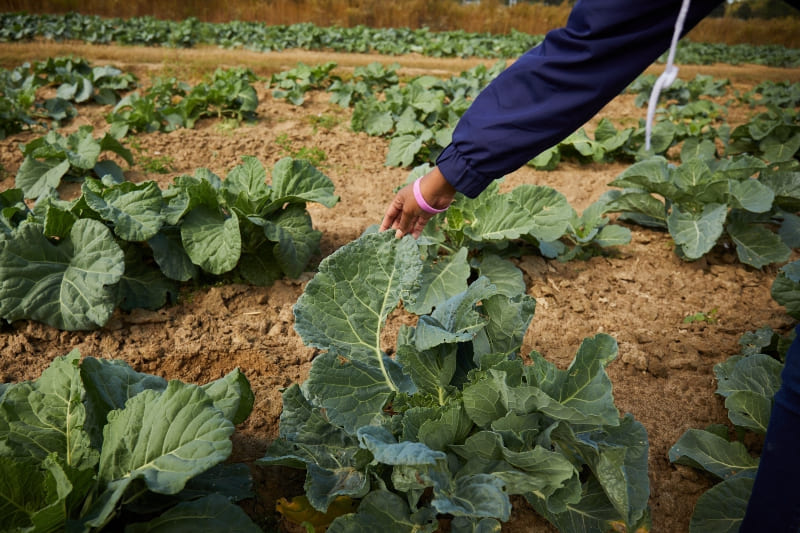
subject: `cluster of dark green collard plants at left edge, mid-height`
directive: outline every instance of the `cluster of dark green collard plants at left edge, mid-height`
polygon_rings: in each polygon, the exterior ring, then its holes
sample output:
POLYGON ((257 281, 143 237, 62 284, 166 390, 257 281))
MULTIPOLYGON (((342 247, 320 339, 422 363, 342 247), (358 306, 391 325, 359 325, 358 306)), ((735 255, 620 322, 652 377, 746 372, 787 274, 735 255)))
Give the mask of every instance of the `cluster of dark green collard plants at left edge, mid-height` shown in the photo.
POLYGON ((154 181, 87 178, 71 202, 24 192, 0 198, 0 317, 64 330, 103 326, 116 307, 158 309, 177 283, 201 275, 269 285, 299 276, 317 252, 308 202, 332 207, 333 184, 307 161, 284 158, 272 183, 254 157, 223 181, 208 169, 154 181))

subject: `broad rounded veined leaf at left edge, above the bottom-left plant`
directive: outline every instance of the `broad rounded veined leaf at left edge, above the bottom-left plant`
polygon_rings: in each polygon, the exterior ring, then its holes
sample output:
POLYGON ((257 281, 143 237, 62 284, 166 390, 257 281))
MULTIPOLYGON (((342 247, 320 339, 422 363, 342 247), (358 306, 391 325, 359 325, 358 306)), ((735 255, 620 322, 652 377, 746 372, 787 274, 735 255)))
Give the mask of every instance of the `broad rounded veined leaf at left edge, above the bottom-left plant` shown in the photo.
POLYGON ((106 323, 116 306, 124 255, 101 222, 81 219, 55 245, 24 224, 0 251, 0 315, 64 330, 106 323))

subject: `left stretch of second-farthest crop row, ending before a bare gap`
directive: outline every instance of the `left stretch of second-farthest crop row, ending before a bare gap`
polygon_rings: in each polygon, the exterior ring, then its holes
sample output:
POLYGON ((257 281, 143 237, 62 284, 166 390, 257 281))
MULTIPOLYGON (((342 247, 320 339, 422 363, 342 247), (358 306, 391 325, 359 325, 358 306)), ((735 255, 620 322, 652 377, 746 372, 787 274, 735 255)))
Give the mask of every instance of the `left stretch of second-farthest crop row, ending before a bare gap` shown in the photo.
POLYGON ((136 76, 110 65, 68 56, 26 63, 0 73, 0 138, 59 127, 77 115, 76 105, 90 102, 113 105, 106 118, 122 134, 193 128, 208 117, 251 120, 258 106, 255 81, 249 69, 217 69, 194 86, 158 78, 141 94, 136 76), (40 96, 46 88, 55 96, 40 96))

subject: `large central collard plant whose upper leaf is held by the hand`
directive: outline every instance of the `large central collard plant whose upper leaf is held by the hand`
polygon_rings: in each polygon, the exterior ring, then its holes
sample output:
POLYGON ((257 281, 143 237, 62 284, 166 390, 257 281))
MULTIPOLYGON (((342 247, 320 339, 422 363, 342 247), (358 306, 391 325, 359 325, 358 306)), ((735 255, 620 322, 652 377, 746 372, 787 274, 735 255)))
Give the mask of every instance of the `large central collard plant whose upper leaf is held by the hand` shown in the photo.
POLYGON ((452 531, 496 530, 513 494, 565 532, 646 523, 647 434, 620 417, 605 372, 616 342, 586 339, 567 370, 536 352, 525 365, 535 302, 524 285, 504 294, 462 274, 436 276, 432 295, 416 241, 392 232, 326 258, 294 308, 322 353, 284 392, 280 437, 260 463, 304 468, 318 511, 358 499, 328 531, 436 531, 444 515, 452 531), (433 310, 387 351, 387 317, 420 299, 433 310))

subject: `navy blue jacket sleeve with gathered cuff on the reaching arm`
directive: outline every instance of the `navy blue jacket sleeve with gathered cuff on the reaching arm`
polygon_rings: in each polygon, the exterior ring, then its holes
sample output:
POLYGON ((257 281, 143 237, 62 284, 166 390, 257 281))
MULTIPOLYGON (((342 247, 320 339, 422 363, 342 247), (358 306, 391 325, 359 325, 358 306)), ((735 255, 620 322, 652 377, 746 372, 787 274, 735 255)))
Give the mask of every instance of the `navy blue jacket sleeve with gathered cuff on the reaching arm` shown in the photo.
MULTIPOLYGON (((684 33, 722 0, 693 0, 684 33)), ((490 83, 438 157, 442 174, 474 198, 492 180, 555 146, 620 94, 669 48, 680 0, 578 0, 490 83)))

